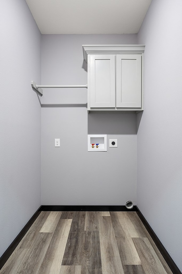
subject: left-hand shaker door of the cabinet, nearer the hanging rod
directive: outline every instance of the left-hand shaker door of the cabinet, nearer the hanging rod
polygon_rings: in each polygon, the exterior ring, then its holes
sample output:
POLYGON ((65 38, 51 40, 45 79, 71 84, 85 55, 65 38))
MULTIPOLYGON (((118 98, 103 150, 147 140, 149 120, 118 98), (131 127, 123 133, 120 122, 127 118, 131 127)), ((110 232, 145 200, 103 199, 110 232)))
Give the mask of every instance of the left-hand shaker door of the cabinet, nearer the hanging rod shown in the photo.
POLYGON ((90 107, 115 107, 115 55, 90 55, 90 107))

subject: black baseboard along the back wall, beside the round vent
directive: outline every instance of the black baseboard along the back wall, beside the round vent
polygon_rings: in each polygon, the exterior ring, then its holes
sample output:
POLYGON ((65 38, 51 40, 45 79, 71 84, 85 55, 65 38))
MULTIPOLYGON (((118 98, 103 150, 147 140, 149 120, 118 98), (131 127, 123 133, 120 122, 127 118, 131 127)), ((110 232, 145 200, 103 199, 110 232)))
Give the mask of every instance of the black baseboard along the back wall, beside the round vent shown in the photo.
POLYGON ((137 211, 137 207, 125 206, 41 206, 41 211, 137 211))

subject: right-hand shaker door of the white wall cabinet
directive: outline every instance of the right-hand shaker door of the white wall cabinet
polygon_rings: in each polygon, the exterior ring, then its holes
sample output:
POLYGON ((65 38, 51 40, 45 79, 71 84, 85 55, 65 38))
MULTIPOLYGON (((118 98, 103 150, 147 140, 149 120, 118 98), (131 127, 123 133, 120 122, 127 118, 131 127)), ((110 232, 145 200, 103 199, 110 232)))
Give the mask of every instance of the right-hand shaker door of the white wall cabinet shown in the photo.
POLYGON ((140 54, 116 55, 116 107, 141 107, 141 72, 142 56, 140 54))

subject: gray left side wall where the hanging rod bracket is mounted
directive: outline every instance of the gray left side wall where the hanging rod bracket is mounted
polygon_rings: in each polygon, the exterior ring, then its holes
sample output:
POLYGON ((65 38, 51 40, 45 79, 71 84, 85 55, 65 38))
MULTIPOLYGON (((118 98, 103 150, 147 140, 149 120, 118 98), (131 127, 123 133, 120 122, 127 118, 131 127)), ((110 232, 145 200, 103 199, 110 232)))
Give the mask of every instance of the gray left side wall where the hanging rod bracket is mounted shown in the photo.
POLYGON ((25 1, 0 1, 0 256, 40 206, 41 34, 25 1))

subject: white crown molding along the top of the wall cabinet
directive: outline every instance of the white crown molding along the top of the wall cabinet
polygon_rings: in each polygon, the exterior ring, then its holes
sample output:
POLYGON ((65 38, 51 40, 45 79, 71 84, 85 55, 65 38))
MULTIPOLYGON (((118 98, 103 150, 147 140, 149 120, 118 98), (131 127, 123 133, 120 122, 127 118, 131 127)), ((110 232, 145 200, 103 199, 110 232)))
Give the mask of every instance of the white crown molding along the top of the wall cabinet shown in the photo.
POLYGON ((144 53, 145 45, 82 45, 82 48, 87 63, 88 54, 144 53))

